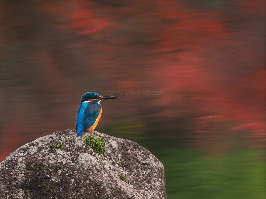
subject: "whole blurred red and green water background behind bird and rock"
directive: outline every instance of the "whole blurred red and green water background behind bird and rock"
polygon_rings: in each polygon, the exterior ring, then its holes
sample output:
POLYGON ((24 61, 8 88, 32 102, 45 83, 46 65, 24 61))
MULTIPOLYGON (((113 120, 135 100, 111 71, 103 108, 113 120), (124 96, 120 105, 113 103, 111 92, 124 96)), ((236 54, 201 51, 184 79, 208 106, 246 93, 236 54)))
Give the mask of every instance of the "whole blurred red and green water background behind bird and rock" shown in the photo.
POLYGON ((114 92, 96 130, 155 154, 170 199, 265 198, 265 8, 1 1, 0 161, 74 129, 83 93, 114 92))

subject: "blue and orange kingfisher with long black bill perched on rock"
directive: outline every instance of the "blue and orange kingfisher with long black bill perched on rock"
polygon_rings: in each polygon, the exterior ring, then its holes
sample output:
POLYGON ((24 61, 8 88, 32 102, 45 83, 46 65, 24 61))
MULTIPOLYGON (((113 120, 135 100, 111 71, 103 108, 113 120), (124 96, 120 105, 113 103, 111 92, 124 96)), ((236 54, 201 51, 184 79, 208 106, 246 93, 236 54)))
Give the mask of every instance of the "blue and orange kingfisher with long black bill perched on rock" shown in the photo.
POLYGON ((102 114, 100 101, 105 99, 115 99, 119 97, 101 96, 95 92, 83 94, 80 105, 77 108, 76 130, 77 136, 81 136, 84 131, 94 131, 102 114))

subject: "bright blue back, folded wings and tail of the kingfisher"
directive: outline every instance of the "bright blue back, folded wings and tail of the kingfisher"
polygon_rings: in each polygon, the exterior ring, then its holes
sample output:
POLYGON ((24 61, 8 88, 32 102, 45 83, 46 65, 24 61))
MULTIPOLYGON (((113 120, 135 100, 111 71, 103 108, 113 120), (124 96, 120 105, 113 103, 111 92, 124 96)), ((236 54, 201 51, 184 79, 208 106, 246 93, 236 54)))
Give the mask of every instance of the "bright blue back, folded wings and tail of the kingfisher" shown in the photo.
POLYGON ((77 136, 82 135, 86 128, 91 127, 100 113, 100 106, 97 103, 82 103, 77 109, 76 127, 77 136))

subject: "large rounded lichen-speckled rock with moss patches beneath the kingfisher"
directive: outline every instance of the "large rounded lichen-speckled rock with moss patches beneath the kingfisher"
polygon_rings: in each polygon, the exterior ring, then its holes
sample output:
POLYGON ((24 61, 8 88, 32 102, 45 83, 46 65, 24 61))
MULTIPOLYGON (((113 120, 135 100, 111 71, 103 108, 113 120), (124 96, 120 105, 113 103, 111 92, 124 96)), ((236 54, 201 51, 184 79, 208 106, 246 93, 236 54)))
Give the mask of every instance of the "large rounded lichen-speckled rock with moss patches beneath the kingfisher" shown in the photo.
POLYGON ((96 131, 57 131, 21 146, 0 163, 0 198, 166 199, 162 163, 130 140, 96 131), (105 142, 96 153, 89 136, 105 142), (60 145, 60 146, 59 146, 60 145))

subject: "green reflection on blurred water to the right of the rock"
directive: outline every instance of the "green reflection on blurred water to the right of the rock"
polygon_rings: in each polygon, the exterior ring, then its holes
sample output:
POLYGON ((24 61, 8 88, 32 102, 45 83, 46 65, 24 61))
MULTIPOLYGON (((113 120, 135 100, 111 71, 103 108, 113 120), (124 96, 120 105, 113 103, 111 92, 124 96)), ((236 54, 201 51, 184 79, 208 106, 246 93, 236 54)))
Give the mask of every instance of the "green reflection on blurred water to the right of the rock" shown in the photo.
POLYGON ((207 152, 191 149, 191 145, 187 145, 189 140, 184 138, 162 139, 115 131, 112 136, 137 142, 163 163, 169 199, 266 197, 263 149, 234 149, 210 154, 212 149, 207 152))

